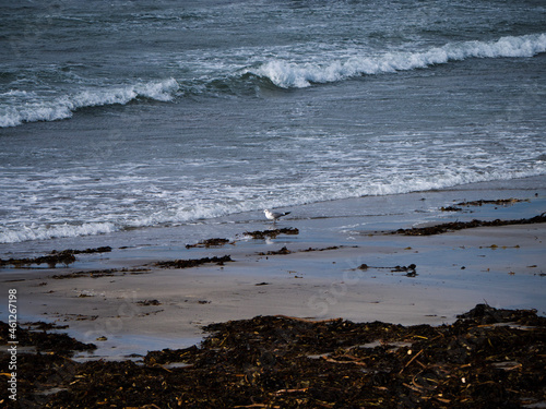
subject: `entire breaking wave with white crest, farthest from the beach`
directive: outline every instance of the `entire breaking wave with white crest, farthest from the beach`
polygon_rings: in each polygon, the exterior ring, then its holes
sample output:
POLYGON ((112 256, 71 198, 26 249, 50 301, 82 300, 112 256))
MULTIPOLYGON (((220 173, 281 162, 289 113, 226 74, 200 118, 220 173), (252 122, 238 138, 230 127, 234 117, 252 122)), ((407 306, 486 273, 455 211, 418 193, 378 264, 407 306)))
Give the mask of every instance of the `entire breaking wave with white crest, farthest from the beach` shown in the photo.
MULTIPOLYGON (((275 55, 274 50, 270 51, 268 53, 275 55)), ((180 80, 183 89, 174 77, 130 85, 87 87, 55 98, 35 92, 10 89, 0 94, 0 100, 8 101, 3 107, 0 106, 0 128, 68 119, 81 108, 126 105, 138 98, 170 101, 177 95, 186 93, 215 95, 218 89, 237 88, 246 82, 248 75, 268 80, 281 88, 305 88, 313 83, 333 83, 361 75, 424 69, 470 58, 533 57, 546 52, 546 33, 502 37, 495 41, 451 43, 424 51, 393 51, 376 56, 364 56, 363 51, 356 50, 346 51, 352 56, 340 58, 339 53, 333 56, 328 52, 312 55, 308 50, 302 55, 307 55, 312 62, 298 62, 294 60, 296 55, 299 59, 296 51, 283 58, 272 57, 263 61, 259 58, 261 52, 254 49, 254 53, 245 56, 249 64, 247 68, 238 62, 228 64, 227 71, 226 68, 221 71, 206 69, 206 74, 197 76, 197 83, 195 79, 180 80), (254 67, 250 68, 250 64, 254 67)))

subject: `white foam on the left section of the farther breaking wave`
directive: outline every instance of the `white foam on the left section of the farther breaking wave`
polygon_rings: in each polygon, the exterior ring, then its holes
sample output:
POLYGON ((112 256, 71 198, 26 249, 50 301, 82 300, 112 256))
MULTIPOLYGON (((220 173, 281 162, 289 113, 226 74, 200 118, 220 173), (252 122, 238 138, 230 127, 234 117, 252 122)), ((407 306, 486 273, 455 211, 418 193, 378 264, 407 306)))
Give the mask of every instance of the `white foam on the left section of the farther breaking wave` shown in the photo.
POLYGON ((170 101, 178 89, 177 81, 168 79, 118 87, 88 88, 52 100, 36 96, 28 100, 28 93, 11 91, 9 96, 21 96, 24 99, 22 98, 19 104, 0 110, 0 128, 16 127, 24 122, 67 119, 71 118, 72 113, 80 108, 115 104, 126 105, 139 97, 170 101))

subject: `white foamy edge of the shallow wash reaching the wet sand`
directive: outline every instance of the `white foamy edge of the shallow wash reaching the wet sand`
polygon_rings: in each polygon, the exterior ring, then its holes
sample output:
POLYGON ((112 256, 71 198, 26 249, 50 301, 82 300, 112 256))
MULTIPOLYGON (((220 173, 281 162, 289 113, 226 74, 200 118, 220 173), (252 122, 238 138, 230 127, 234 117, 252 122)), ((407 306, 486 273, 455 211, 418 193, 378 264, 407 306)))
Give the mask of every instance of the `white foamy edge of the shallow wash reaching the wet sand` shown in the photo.
MULTIPOLYGON (((198 220, 213 219, 233 214, 254 212, 263 208, 290 208, 293 206, 332 200, 351 199, 372 195, 403 194, 418 191, 430 191, 452 188, 473 182, 487 182, 492 180, 511 180, 517 178, 545 175, 546 166, 529 170, 494 170, 489 172, 473 171, 470 169, 444 169, 441 173, 411 175, 407 172, 393 172, 390 175, 370 175, 369 178, 348 178, 344 183, 318 180, 312 185, 308 184, 280 184, 272 185, 269 192, 263 192, 259 187, 240 187, 238 189, 224 189, 211 196, 210 193, 193 196, 170 192, 159 201, 150 202, 150 206, 139 203, 117 201, 97 209, 88 208, 88 221, 84 222, 34 222, 24 220, 12 221, 0 228, 0 243, 16 243, 32 240, 49 240, 55 238, 75 238, 81 236, 97 236, 120 231, 124 228, 141 228, 150 226, 179 225, 198 220), (169 206, 165 208, 165 200, 169 206), (112 206, 111 208, 109 206, 112 206), (120 212, 120 205, 123 210, 120 212), (108 221, 92 221, 104 218, 108 221)), ((45 209, 45 216, 55 216, 55 209, 45 209)), ((87 213, 83 209, 82 213, 87 213)))

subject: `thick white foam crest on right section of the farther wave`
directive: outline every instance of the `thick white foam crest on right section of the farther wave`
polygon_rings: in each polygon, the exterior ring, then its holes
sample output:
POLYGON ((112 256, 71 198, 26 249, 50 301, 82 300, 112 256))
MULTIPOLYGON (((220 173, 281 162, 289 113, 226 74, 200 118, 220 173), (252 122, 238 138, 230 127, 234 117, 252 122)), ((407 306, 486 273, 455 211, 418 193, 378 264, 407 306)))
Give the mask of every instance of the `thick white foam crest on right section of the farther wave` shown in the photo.
POLYGON ((312 83, 331 83, 346 79, 408 71, 461 61, 468 58, 533 57, 546 52, 546 33, 502 37, 496 41, 452 43, 419 52, 388 52, 380 57, 355 56, 324 63, 296 63, 270 60, 246 73, 269 79, 282 88, 304 88, 312 83))

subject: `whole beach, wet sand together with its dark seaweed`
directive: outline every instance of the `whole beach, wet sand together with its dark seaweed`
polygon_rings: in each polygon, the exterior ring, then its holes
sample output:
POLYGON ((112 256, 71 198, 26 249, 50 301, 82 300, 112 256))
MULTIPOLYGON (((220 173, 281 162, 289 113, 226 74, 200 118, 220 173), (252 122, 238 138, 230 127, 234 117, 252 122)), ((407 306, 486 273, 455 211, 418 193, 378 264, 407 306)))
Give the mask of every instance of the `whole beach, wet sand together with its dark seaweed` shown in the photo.
MULTIPOLYGON (((0 402, 544 405, 541 383, 529 380, 544 370, 546 222, 491 220, 542 215, 546 189, 500 192, 475 195, 518 200, 442 212, 472 192, 363 197, 337 213, 332 203, 298 207, 276 226, 211 224, 186 242, 180 228, 156 230, 155 243, 143 231, 131 245, 83 240, 58 248, 56 268, 47 256, 43 267, 4 267, 22 342, 20 401, 2 392, 0 402), (392 212, 366 215, 371 202, 392 212), (472 228, 397 231, 430 225, 472 228), (92 242, 100 246, 83 245, 92 242)), ((11 352, 0 339, 5 363, 11 352)))

